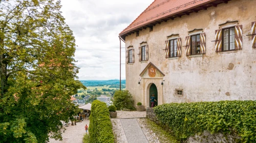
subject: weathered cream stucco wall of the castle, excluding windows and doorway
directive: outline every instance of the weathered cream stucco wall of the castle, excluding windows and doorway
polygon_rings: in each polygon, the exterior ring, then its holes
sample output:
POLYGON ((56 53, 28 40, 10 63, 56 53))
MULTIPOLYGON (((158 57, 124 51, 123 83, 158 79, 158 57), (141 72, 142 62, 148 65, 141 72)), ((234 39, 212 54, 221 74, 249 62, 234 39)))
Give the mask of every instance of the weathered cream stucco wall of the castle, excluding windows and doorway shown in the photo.
POLYGON ((144 98, 147 98, 146 88, 150 83, 144 82, 144 85, 138 81, 139 74, 150 62, 165 74, 164 84, 160 84, 163 103, 256 100, 256 49, 252 48, 251 36, 247 36, 251 34, 251 22, 256 21, 255 4, 256 0, 232 0, 162 22, 155 25, 152 32, 149 28, 140 31, 138 37, 136 34, 126 36, 126 47, 133 45, 135 49, 135 63, 126 64, 126 89, 134 96, 135 104, 147 103, 144 98), (243 25, 243 49, 216 52, 215 42, 211 42, 215 40, 215 30, 219 29, 219 24, 234 20, 243 25), (203 28, 206 33, 206 54, 189 57, 185 54, 185 37, 195 28, 203 28), (179 34, 182 40, 182 56, 170 60, 165 58, 163 49, 166 37, 172 34, 179 34), (138 47, 142 41, 149 46, 147 62, 139 62, 138 47), (234 67, 229 70, 232 64, 234 67), (183 89, 184 95, 175 96, 175 89, 183 89))

